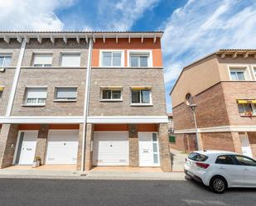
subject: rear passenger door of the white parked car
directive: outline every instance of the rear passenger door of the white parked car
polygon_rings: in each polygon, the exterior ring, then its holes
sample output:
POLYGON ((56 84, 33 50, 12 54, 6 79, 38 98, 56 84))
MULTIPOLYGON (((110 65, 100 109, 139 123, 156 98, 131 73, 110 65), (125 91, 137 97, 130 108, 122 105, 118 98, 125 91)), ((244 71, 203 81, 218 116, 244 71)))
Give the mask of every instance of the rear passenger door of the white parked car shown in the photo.
POLYGON ((229 186, 244 185, 244 171, 237 165, 236 160, 230 155, 218 156, 215 161, 217 173, 228 179, 229 186))

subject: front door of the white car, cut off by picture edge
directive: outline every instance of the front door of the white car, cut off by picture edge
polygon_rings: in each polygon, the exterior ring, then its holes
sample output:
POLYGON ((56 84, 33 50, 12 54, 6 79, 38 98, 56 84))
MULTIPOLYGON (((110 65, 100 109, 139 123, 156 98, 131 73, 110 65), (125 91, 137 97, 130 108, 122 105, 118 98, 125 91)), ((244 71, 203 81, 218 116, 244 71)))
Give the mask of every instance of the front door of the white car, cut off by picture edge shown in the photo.
POLYGON ((235 156, 235 158, 244 172, 244 185, 256 187, 256 160, 247 156, 235 156))

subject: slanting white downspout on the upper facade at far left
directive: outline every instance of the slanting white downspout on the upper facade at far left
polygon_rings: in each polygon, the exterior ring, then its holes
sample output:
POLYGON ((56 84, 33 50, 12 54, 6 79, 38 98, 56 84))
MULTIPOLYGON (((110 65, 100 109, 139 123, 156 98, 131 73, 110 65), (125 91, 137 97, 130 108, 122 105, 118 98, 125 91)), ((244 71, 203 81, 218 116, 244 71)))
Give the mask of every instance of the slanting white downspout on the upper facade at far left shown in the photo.
POLYGON ((22 60, 23 60, 23 56, 25 53, 25 49, 26 49, 26 41, 25 39, 22 40, 22 46, 21 46, 21 50, 20 50, 20 54, 17 60, 17 66, 15 69, 15 74, 13 77, 13 82, 12 82, 12 89, 11 89, 11 93, 9 96, 9 100, 8 100, 8 104, 7 104, 7 111, 5 116, 10 117, 11 113, 12 113, 12 104, 14 101, 14 97, 15 97, 15 93, 16 93, 16 89, 17 89, 17 82, 21 73, 21 67, 22 67, 22 60))

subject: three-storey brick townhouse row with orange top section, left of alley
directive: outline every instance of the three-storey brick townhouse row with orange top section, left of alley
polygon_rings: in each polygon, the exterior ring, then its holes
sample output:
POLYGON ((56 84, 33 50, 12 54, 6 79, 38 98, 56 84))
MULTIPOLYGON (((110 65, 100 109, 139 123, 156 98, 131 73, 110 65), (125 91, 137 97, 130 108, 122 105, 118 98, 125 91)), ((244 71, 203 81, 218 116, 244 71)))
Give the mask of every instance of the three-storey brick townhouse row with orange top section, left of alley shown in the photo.
POLYGON ((162 32, 0 32, 0 168, 171 170, 162 32))

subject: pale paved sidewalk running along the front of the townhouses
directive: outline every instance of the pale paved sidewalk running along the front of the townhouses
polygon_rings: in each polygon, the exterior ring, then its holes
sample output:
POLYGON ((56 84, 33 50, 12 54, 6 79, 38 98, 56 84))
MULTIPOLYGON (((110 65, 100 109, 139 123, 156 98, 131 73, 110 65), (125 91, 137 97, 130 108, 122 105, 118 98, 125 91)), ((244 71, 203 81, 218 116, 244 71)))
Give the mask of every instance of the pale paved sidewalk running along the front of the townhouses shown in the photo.
POLYGON ((0 170, 0 178, 66 180, 185 180, 183 172, 0 170))

